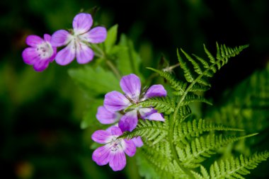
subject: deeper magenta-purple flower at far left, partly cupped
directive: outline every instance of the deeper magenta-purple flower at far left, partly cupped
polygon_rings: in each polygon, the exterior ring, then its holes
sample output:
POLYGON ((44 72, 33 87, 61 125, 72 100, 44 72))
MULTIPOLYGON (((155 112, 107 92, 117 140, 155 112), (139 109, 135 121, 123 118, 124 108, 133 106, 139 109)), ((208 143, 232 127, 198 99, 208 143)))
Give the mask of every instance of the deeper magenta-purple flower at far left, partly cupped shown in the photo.
POLYGON ((44 35, 44 40, 38 35, 29 35, 25 42, 30 47, 23 50, 23 61, 25 64, 33 65, 35 71, 43 71, 50 62, 55 59, 57 49, 50 42, 51 36, 44 35))

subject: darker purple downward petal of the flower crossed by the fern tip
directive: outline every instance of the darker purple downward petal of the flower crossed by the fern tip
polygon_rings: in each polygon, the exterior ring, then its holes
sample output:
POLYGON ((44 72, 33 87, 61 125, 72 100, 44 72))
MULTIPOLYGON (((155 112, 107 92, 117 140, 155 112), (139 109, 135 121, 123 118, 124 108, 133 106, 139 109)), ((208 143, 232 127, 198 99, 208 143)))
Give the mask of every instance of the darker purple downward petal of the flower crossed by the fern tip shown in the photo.
POLYGON ((137 122, 137 112, 135 110, 132 110, 130 112, 127 112, 120 118, 119 127, 122 132, 131 132, 133 129, 135 129, 135 127, 137 127, 137 122))

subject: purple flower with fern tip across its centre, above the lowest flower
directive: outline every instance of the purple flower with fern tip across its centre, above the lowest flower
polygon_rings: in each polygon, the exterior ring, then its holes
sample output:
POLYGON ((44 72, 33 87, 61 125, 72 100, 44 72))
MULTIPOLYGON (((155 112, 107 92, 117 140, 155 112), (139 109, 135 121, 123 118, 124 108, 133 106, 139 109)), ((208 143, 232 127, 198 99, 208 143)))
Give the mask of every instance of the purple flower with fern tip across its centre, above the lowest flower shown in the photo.
MULTIPOLYGON (((120 87, 125 95, 118 91, 112 91, 105 95, 104 107, 110 112, 125 110, 130 105, 156 96, 166 96, 166 90, 162 85, 151 86, 146 93, 141 94, 141 82, 135 74, 123 76, 120 80, 120 87)), ((122 131, 132 131, 137 126, 138 117, 148 120, 164 121, 164 117, 154 108, 143 108, 137 105, 136 108, 126 112, 119 122, 122 131)))

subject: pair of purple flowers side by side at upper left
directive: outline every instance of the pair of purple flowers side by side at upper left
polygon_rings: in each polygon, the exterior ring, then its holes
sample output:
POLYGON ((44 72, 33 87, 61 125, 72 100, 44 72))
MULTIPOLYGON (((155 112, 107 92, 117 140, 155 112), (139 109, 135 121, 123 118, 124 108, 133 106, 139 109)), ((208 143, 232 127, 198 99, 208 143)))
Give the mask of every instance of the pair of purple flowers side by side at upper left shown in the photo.
POLYGON ((74 17, 73 30, 57 30, 52 36, 45 34, 44 40, 38 35, 26 38, 23 61, 33 65, 35 71, 45 70, 55 59, 57 64, 67 65, 76 57, 79 64, 91 62, 94 56, 90 43, 104 42, 107 31, 103 27, 91 29, 93 18, 89 13, 79 13, 74 17), (91 29, 91 30, 90 30, 91 29), (57 52, 57 47, 63 47, 57 52))

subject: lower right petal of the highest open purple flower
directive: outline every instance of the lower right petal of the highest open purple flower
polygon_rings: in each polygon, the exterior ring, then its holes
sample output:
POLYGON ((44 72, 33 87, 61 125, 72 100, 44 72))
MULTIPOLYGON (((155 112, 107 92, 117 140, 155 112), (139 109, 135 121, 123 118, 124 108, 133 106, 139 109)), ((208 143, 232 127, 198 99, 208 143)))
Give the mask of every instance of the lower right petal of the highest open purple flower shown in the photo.
POLYGON ((79 64, 86 64, 93 59, 93 50, 82 42, 76 42, 76 61, 79 64))

